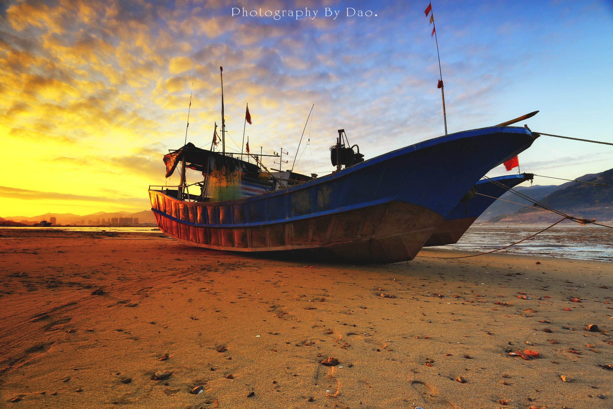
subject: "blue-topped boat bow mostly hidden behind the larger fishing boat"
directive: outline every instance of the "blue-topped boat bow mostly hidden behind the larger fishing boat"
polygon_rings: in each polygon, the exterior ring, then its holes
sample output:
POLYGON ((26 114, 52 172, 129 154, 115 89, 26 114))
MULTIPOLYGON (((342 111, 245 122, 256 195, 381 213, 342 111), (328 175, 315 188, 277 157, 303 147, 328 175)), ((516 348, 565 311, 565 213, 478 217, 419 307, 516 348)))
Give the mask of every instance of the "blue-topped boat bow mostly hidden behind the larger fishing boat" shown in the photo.
POLYGON ((522 182, 532 180, 533 174, 505 175, 479 180, 460 202, 446 216, 443 223, 436 227, 424 247, 444 246, 460 240, 468 227, 495 202, 498 197, 522 182))

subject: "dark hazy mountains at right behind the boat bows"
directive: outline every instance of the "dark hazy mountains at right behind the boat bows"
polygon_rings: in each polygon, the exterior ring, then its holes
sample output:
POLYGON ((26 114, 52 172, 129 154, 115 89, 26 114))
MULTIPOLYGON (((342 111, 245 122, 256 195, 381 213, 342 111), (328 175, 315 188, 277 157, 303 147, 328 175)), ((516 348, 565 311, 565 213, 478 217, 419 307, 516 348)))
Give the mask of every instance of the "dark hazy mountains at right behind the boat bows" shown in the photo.
MULTIPOLYGON (((609 186, 567 182, 560 186, 529 186, 516 190, 569 216, 600 221, 613 220, 613 169, 600 174, 583 175, 576 180, 609 186)), ((500 198, 533 205, 512 192, 507 192, 500 198)), ((557 220, 560 220, 560 216, 555 213, 503 201, 494 202, 479 218, 479 221, 489 223, 553 223, 557 220)))

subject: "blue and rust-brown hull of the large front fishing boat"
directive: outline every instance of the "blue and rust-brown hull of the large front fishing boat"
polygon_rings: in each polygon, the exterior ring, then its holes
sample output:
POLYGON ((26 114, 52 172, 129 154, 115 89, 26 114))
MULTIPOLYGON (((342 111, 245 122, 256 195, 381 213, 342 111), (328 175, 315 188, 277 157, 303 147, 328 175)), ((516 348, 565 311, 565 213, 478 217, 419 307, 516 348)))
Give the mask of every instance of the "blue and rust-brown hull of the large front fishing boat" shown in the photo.
POLYGON ((162 231, 198 247, 406 261, 479 178, 534 140, 525 128, 474 129, 235 201, 183 202, 150 190, 151 207, 162 231))

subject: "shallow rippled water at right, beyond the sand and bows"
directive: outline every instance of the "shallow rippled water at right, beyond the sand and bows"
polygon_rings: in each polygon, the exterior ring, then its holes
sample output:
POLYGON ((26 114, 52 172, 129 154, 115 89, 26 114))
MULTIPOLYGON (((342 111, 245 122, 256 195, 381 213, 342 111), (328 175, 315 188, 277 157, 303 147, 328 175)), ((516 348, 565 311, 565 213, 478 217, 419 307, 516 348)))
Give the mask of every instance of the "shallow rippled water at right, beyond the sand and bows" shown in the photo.
MULTIPOLYGON (((459 242, 440 248, 490 251, 519 242, 546 226, 473 226, 459 242)), ((499 253, 613 261, 613 229, 600 226, 557 225, 499 253)))

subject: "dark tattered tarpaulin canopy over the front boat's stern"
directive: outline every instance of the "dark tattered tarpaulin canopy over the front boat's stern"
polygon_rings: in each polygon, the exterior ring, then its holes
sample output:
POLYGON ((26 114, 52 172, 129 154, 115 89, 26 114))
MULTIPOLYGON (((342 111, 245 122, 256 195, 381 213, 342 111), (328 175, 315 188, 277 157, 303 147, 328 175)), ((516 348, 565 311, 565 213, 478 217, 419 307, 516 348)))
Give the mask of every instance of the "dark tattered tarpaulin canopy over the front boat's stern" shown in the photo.
POLYGON ((221 153, 210 150, 197 148, 193 143, 188 142, 185 146, 178 150, 172 151, 164 155, 164 164, 166 165, 166 177, 170 177, 174 172, 179 162, 185 158, 185 166, 189 169, 199 170, 200 172, 210 172, 213 169, 235 169, 240 172, 245 172, 249 175, 256 175, 259 172, 259 167, 256 164, 248 163, 240 159, 232 158, 232 156, 222 155, 221 153))

